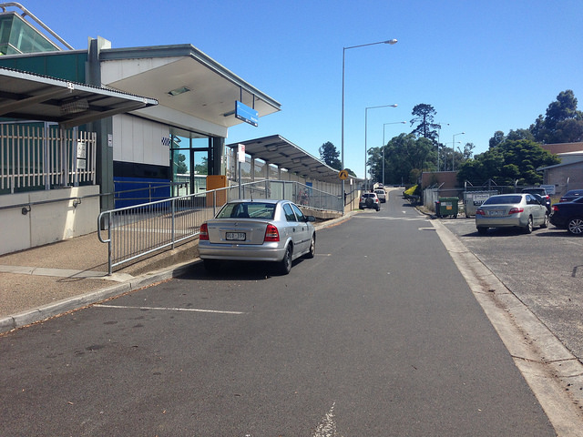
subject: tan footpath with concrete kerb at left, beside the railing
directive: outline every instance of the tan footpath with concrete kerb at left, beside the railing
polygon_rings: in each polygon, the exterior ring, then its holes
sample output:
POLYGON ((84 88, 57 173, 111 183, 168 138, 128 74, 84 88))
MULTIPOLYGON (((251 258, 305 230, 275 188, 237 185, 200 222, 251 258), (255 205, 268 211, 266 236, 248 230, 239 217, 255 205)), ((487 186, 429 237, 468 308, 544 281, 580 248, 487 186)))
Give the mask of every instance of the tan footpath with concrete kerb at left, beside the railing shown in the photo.
POLYGON ((107 275, 97 233, 0 256, 0 333, 179 275, 198 239, 107 275))

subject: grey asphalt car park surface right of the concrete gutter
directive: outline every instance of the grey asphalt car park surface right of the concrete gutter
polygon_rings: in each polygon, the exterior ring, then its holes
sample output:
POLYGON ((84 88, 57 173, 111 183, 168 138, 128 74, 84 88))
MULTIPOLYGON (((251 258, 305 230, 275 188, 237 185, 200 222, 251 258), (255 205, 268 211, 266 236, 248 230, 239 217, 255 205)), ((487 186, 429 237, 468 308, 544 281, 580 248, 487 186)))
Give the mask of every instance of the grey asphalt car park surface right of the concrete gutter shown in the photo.
POLYGON ((441 219, 583 362, 583 239, 549 225, 476 232, 474 219, 441 219))

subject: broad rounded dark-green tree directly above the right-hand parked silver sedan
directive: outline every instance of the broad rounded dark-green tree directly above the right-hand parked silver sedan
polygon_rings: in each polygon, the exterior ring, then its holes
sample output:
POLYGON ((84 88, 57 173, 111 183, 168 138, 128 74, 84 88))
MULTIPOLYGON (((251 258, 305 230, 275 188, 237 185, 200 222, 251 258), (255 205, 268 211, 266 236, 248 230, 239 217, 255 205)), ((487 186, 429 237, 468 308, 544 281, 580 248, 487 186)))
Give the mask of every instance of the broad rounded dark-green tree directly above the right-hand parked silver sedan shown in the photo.
POLYGON ((498 185, 540 184, 542 175, 537 168, 558 164, 559 159, 538 143, 529 139, 506 139, 485 153, 461 163, 457 180, 482 185, 493 179, 498 185))

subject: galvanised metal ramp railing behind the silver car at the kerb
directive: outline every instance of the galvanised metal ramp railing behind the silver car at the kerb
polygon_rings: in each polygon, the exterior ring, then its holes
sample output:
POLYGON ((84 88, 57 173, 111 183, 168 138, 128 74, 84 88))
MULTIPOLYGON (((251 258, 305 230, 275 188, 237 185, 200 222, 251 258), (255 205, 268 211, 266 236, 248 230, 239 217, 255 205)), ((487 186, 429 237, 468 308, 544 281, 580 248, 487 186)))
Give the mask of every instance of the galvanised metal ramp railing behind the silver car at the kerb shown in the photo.
POLYGON ((227 201, 283 198, 306 208, 343 211, 343 199, 298 182, 264 180, 201 194, 167 198, 104 211, 97 218, 97 238, 107 243, 107 272, 160 249, 174 249, 199 234, 227 201), (239 195, 240 193, 240 195, 239 195))

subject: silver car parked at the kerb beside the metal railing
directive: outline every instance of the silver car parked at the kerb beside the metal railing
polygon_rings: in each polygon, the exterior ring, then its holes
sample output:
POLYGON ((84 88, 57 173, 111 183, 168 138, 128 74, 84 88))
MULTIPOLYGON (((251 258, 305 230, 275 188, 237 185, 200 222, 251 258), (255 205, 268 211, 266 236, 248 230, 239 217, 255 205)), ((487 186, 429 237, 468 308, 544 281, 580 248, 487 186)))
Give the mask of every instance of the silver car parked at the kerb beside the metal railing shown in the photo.
POLYGON ((200 226, 199 257, 209 271, 230 259, 271 261, 287 274, 294 259, 316 252, 313 221, 288 200, 233 200, 200 226))

